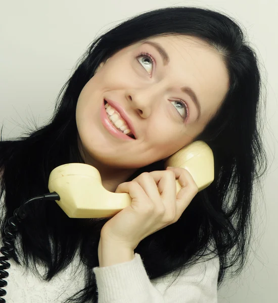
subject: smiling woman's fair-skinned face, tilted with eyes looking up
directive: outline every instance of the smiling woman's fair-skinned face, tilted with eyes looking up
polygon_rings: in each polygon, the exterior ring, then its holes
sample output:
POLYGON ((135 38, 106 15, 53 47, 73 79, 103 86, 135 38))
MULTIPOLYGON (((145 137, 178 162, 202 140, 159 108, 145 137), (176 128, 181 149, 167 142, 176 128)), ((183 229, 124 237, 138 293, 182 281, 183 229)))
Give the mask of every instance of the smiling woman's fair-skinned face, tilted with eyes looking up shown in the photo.
POLYGON ((78 98, 76 123, 86 162, 132 169, 169 157, 202 132, 228 85, 221 56, 196 37, 161 36, 121 49, 100 65, 78 98), (108 131, 104 99, 124 110, 136 139, 108 131))

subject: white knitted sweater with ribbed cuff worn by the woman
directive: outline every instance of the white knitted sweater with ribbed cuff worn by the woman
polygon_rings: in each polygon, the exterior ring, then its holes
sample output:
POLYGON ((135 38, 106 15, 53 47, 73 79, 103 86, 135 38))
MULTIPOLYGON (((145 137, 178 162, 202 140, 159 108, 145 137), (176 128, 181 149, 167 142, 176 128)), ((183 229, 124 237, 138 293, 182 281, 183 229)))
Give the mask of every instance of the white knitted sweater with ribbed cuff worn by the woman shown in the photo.
MULTIPOLYGON (((1 203, 2 206, 2 203, 1 203)), ((0 241, 3 246, 2 239, 0 241)), ((0 256, 3 256, 0 253, 0 256)), ((71 264, 50 282, 43 281, 12 260, 4 287, 7 303, 62 303, 84 286, 84 265, 76 254, 71 264)), ((44 273, 42 265, 38 271, 44 273)), ((192 266, 175 282, 172 275, 150 281, 141 256, 108 267, 95 267, 98 303, 216 303, 219 259, 192 266)))

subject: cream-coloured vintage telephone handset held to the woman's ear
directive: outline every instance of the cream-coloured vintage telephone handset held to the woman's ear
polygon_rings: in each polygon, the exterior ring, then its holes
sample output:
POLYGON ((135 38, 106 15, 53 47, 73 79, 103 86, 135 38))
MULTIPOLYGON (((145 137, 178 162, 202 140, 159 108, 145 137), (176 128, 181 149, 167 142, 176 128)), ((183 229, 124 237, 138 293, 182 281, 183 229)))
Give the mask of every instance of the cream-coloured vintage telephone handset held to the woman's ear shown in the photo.
MULTIPOLYGON (((195 141, 180 149, 166 162, 167 166, 186 168, 197 183, 199 191, 214 179, 214 161, 210 147, 195 141)), ((181 186, 176 180, 176 190, 181 186)), ((50 192, 56 191, 56 201, 70 218, 113 217, 131 204, 128 193, 115 193, 102 185, 99 171, 83 163, 69 163, 56 167, 49 178, 50 192)))

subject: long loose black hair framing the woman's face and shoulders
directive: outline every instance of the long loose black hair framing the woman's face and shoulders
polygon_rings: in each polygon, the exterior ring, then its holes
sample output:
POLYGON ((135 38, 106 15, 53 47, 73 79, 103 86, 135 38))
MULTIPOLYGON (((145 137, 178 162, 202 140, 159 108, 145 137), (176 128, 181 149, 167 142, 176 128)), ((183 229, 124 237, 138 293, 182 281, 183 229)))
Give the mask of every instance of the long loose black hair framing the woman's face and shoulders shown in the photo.
MULTIPOLYGON (((61 89, 51 121, 25 136, 0 142, 2 194, 5 189, 7 210, 2 236, 16 208, 30 197, 49 192, 48 179, 55 167, 83 162, 77 145, 75 109, 82 88, 99 64, 132 43, 165 34, 193 35, 216 47, 226 64, 230 85, 221 108, 196 138, 213 150, 214 182, 194 197, 175 224, 142 240, 135 252, 143 257, 150 279, 193 265, 207 254, 212 243, 212 252, 220 260, 218 285, 228 268, 235 268, 234 273, 243 269, 251 235, 253 185, 266 169, 258 132, 258 60, 236 22, 200 8, 146 12, 101 35, 88 47, 61 89)), ((164 170, 163 164, 158 161, 143 167, 127 181, 144 171, 164 170)), ((91 269, 99 266, 100 231, 109 218, 71 219, 53 201, 33 204, 27 211, 28 220, 18 232, 22 245, 18 243, 13 259, 29 267, 41 260, 47 268, 44 278, 49 281, 72 261, 80 248, 87 278, 85 288, 75 294, 74 301, 97 302, 96 279, 91 269)))

